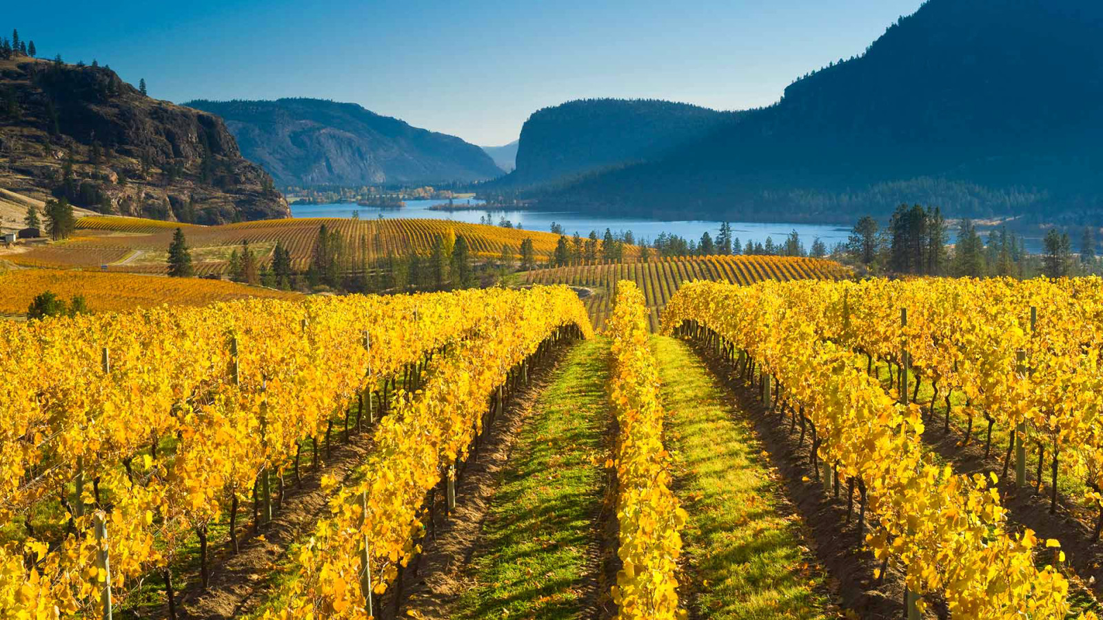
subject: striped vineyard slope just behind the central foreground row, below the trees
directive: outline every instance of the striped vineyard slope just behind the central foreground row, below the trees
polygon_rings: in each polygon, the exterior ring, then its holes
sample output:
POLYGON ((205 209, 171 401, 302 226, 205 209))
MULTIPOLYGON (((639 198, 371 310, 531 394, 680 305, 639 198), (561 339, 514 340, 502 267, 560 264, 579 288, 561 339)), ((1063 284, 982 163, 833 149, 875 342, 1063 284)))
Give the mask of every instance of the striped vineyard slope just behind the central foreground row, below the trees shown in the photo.
POLYGON ((650 311, 651 331, 658 330, 660 314, 683 282, 710 280, 750 285, 762 280, 839 280, 850 271, 834 260, 790 256, 705 256, 656 258, 649 263, 576 265, 537 269, 526 274, 534 285, 564 284, 589 289, 583 299, 595 328, 601 328, 612 311, 617 282, 632 280, 643 290, 650 311))

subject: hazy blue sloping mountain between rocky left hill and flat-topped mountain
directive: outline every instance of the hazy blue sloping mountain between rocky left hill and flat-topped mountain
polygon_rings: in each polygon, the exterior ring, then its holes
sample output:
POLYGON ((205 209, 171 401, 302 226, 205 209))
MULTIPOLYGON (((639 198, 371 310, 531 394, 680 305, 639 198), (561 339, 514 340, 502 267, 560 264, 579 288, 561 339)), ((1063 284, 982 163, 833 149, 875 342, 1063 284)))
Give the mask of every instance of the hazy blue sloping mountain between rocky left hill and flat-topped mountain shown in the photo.
POLYGON ((322 99, 185 104, 216 114, 281 185, 432 184, 502 174, 482 149, 356 104, 322 99))

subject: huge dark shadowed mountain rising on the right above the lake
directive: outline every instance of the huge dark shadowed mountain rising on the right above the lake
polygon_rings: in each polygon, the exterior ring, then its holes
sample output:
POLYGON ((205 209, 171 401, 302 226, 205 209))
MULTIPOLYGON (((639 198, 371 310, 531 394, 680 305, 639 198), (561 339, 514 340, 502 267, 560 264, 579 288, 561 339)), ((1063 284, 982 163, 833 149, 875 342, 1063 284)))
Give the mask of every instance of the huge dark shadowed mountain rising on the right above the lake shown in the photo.
POLYGON ((1097 213, 1101 36, 1097 0, 930 0, 778 104, 544 200, 836 222, 901 202, 974 217, 1097 213))

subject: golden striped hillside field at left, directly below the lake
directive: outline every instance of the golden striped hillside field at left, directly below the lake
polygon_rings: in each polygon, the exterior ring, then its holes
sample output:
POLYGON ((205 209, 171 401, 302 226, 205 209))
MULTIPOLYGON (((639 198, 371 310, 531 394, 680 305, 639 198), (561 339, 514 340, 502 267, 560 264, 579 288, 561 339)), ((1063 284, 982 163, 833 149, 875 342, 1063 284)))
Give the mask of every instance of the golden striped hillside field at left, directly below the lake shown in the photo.
MULTIPOLYGON (((188 245, 193 248, 195 274, 224 274, 231 252, 243 240, 266 260, 281 242, 291 252, 292 266, 306 269, 310 263, 318 231, 322 225, 340 233, 344 239, 344 255, 352 264, 360 260, 363 250, 368 260, 388 253, 405 254, 413 249, 428 254, 438 236, 451 231, 463 236, 475 256, 501 256, 505 244, 520 254, 521 243, 533 239, 537 258, 547 259, 555 252, 558 235, 538 231, 503 228, 443 220, 346 220, 346 218, 289 218, 243 222, 222 226, 196 226, 137 217, 92 216, 79 220, 74 238, 38 247, 4 258, 32 267, 87 268, 107 266, 109 271, 163 274, 165 257, 173 231, 184 229, 188 245), (363 247, 362 247, 363 246, 363 247)), ((635 248, 628 248, 634 254, 635 248)))

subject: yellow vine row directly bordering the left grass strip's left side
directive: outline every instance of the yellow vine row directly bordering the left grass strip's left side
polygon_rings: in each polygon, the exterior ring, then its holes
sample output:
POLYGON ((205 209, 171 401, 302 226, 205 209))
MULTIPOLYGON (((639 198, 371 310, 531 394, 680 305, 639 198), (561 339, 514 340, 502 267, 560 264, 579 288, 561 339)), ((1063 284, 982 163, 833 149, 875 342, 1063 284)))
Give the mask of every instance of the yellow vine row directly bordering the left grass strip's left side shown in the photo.
POLYGON ((375 450, 352 477, 356 482, 334 490, 332 516, 317 525, 266 617, 366 618, 375 596, 420 552, 433 489, 465 464, 501 403, 501 386, 569 335, 592 335, 569 289, 496 296, 495 311, 474 335, 449 349, 421 389, 400 395, 395 415, 375 434, 375 450))

